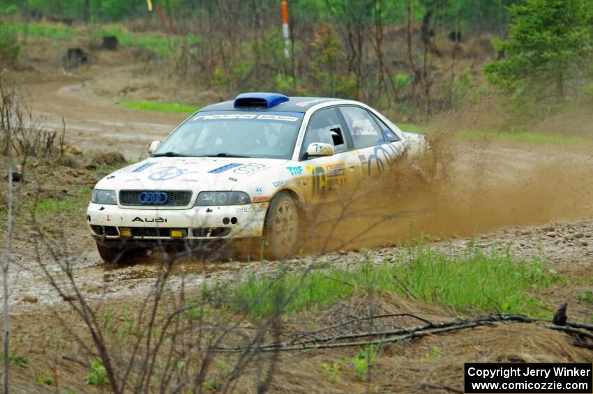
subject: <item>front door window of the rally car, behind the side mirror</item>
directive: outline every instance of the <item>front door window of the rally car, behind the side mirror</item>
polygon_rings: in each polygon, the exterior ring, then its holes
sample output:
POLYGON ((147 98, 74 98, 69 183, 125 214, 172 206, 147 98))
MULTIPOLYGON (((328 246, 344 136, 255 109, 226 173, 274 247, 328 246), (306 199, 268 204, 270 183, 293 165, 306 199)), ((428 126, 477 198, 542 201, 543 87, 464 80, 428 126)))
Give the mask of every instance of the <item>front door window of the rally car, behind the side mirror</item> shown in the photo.
POLYGON ((303 152, 307 151, 307 146, 313 142, 330 144, 336 153, 344 152, 348 149, 346 139, 344 138, 344 131, 342 130, 342 123, 340 123, 335 108, 321 109, 311 116, 301 148, 301 157, 303 152))

